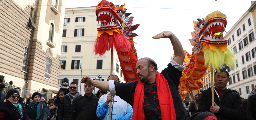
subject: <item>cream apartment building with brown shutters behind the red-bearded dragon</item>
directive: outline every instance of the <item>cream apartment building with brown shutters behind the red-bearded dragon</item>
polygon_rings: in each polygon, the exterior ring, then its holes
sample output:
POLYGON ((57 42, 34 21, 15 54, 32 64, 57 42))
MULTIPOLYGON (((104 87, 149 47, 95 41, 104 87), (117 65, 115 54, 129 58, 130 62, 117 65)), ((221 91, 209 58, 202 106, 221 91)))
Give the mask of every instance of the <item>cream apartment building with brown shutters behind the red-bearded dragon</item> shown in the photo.
MULTIPOLYGON (((59 86, 63 78, 78 83, 78 91, 84 94, 84 83, 81 76, 89 75, 92 79, 102 76, 106 81, 110 75, 111 51, 103 56, 93 53, 94 40, 97 38, 98 19, 96 7, 66 8, 62 34, 61 56, 59 66, 59 86), (81 90, 80 90, 81 89, 81 90)), ((113 74, 120 82, 123 80, 117 52, 114 50, 113 74)), ((100 80, 99 77, 96 80, 100 80)), ((95 94, 98 88, 95 88, 95 94)))

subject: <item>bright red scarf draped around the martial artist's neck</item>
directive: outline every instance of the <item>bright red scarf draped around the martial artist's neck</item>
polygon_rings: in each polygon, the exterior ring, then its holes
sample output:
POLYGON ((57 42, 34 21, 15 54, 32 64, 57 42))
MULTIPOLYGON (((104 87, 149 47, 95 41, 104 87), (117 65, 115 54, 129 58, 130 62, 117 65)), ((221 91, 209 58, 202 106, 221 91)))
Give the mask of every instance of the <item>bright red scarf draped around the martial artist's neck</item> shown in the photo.
MULTIPOLYGON (((139 81, 134 93, 133 116, 132 120, 144 120, 145 114, 143 109, 144 103, 144 85, 145 82, 139 81)), ((157 96, 160 104, 162 120, 176 120, 176 113, 173 105, 173 98, 163 74, 157 72, 156 77, 157 96)))

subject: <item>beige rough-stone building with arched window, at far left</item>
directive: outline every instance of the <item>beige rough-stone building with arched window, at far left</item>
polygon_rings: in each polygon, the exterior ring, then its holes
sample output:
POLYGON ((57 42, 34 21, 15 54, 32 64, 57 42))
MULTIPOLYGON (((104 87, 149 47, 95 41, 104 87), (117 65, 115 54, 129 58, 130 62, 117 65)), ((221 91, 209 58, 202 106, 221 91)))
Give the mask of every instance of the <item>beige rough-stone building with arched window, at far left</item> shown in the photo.
POLYGON ((0 74, 7 83, 57 90, 65 2, 0 1, 0 74))

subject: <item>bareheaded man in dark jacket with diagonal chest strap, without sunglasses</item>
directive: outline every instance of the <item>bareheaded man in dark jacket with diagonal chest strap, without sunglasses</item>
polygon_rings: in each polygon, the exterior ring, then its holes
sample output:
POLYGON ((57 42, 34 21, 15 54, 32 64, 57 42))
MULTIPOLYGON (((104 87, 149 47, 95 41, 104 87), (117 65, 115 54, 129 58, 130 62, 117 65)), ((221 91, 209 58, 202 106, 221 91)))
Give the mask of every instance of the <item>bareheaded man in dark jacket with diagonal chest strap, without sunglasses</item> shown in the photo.
POLYGON ((99 98, 94 97, 93 90, 94 86, 84 84, 85 94, 73 100, 69 111, 69 120, 99 119, 96 114, 99 98))

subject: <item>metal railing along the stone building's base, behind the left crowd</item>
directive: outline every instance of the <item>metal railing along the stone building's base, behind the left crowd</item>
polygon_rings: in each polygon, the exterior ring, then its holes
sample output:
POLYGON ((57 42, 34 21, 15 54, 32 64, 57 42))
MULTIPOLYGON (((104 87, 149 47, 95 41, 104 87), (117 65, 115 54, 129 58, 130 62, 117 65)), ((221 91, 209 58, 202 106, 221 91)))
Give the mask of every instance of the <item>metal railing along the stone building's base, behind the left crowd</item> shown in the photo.
MULTIPOLYGON (((6 90, 8 88, 12 87, 13 89, 16 88, 17 86, 15 85, 5 85, 5 88, 4 88, 4 93, 6 92, 6 90)), ((21 93, 21 97, 22 98, 29 98, 29 93, 35 93, 35 92, 38 92, 38 93, 41 93, 42 94, 42 97, 45 98, 45 101, 48 102, 49 99, 52 98, 52 94, 51 93, 46 93, 46 92, 42 92, 42 91, 36 91, 36 90, 33 90, 33 89, 27 89, 27 88, 23 88, 23 87, 19 87, 21 89, 20 93, 21 93)))

